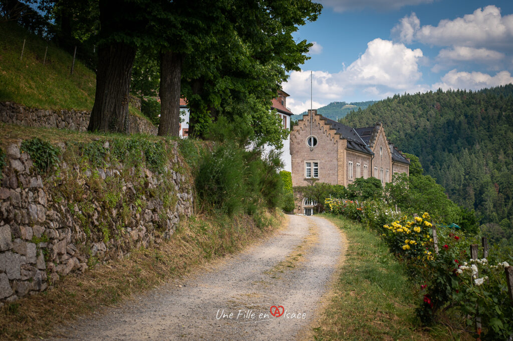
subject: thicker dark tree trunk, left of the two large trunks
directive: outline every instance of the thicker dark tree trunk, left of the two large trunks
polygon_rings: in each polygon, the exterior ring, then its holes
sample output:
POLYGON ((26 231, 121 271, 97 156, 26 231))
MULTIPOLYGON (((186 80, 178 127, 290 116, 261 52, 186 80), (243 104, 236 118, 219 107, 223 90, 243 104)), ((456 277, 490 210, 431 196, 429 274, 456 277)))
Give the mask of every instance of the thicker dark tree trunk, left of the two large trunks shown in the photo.
POLYGON ((113 43, 98 49, 96 92, 89 131, 129 132, 128 102, 135 48, 113 43))

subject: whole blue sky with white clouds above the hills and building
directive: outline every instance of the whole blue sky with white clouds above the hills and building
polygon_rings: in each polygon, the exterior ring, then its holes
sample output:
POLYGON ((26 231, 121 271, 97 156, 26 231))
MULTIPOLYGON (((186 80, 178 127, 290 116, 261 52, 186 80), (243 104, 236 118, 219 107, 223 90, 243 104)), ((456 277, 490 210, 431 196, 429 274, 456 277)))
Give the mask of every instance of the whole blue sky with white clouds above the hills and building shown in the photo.
POLYGON ((334 101, 513 82, 513 1, 321 0, 294 37, 315 42, 283 89, 293 113, 334 101))

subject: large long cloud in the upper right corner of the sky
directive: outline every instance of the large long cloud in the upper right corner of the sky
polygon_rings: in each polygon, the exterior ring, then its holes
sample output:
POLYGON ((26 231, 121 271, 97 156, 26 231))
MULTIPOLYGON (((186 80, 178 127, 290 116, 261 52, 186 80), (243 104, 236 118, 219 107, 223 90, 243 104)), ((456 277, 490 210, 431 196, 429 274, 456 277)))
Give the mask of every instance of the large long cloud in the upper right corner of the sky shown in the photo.
POLYGON ((472 14, 453 20, 442 20, 438 26, 411 24, 418 21, 415 13, 405 16, 392 33, 405 43, 415 40, 435 46, 513 48, 513 14, 501 16, 501 9, 494 5, 478 8, 472 14))

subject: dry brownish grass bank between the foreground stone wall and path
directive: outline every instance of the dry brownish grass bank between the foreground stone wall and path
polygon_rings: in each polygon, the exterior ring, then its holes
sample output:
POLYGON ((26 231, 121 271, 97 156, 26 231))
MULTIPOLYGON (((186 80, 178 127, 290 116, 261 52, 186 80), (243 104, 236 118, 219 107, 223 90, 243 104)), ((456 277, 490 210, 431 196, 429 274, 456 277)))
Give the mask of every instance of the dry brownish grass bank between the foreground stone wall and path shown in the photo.
POLYGON ((47 336, 56 324, 190 273, 209 259, 261 240, 287 221, 278 214, 272 220, 271 226, 259 229, 248 216, 192 217, 161 245, 133 250, 126 258, 69 275, 46 292, 6 304, 0 310, 0 339, 47 336))

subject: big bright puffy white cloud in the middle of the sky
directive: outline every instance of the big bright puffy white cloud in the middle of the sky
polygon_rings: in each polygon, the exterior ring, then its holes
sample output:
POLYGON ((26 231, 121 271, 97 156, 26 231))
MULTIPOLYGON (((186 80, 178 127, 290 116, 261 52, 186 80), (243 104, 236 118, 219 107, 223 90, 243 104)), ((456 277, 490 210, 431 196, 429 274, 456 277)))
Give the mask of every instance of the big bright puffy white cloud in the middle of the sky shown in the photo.
POLYGON ((343 72, 349 84, 385 85, 406 89, 421 78, 418 61, 423 53, 377 38, 367 50, 343 72))

